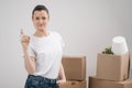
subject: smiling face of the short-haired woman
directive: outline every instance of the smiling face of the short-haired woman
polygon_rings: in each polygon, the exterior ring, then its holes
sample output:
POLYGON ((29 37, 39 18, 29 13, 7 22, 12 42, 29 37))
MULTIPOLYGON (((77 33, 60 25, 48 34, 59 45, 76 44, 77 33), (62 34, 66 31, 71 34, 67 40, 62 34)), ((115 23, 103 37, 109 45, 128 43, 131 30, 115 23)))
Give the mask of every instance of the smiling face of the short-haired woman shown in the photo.
POLYGON ((34 11, 32 20, 35 29, 43 31, 44 29, 46 29, 50 18, 47 12, 42 10, 42 11, 34 11))

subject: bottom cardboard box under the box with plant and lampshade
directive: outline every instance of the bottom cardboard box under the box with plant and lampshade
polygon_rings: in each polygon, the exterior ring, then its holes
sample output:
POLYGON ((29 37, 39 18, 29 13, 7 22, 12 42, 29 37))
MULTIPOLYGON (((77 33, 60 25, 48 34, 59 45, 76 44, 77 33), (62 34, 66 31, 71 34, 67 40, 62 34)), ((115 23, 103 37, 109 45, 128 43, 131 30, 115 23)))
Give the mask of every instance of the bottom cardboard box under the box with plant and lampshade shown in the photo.
POLYGON ((132 79, 111 81, 89 77, 89 88, 132 88, 132 79))

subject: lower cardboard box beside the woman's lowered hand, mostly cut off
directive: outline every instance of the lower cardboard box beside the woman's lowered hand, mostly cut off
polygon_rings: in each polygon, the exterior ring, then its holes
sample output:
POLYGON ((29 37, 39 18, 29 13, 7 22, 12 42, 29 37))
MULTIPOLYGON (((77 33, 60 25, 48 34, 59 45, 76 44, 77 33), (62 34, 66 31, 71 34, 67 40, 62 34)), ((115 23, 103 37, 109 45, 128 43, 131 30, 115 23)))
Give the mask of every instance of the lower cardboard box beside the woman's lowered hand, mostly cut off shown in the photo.
POLYGON ((61 85, 59 88, 86 88, 86 81, 67 80, 66 84, 61 85))

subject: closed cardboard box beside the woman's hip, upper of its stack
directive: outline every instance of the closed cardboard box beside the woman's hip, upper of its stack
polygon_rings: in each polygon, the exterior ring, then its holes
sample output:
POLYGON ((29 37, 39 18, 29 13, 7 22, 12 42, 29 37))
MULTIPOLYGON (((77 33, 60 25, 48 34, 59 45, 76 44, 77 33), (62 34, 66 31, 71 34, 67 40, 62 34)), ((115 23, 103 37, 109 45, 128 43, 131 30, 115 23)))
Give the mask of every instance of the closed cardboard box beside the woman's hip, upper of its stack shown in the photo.
POLYGON ((86 79, 86 56, 63 56, 62 62, 67 80, 86 79))

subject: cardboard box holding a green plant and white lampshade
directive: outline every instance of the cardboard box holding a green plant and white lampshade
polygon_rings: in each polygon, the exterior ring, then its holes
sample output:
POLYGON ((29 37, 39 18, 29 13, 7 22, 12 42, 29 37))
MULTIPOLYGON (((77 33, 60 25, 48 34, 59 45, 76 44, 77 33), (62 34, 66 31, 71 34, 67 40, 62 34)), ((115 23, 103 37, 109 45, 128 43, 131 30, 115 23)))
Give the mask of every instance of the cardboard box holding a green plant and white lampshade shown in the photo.
POLYGON ((124 80, 129 78, 129 53, 124 55, 98 54, 97 78, 106 80, 124 80))

